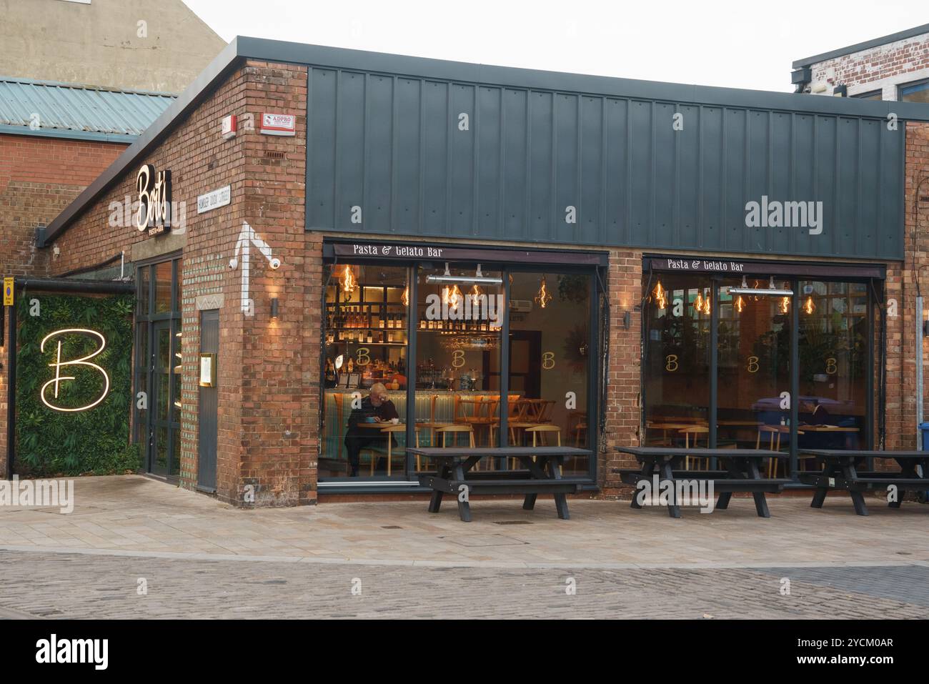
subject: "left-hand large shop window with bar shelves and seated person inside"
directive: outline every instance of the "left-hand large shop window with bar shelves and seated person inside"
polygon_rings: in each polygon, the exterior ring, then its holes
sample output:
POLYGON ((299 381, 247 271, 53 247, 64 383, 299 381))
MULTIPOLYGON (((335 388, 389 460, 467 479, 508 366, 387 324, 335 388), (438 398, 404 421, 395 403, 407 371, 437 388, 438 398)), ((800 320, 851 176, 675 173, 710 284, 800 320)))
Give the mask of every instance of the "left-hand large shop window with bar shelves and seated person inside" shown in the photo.
MULTIPOLYGON (((320 480, 416 482, 434 464, 408 443, 590 448, 594 274, 581 271, 327 265, 320 480)), ((592 467, 569 459, 562 475, 592 467)))

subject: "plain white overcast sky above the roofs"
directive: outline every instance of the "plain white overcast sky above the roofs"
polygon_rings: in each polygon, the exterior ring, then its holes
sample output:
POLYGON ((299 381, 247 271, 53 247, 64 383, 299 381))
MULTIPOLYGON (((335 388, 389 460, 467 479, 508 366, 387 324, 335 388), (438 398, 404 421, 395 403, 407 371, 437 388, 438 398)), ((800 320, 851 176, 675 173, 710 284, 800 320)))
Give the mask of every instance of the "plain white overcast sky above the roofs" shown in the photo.
POLYGON ((791 63, 929 23, 925 0, 184 0, 235 35, 791 92, 791 63), (922 11, 920 9, 922 8, 922 11))

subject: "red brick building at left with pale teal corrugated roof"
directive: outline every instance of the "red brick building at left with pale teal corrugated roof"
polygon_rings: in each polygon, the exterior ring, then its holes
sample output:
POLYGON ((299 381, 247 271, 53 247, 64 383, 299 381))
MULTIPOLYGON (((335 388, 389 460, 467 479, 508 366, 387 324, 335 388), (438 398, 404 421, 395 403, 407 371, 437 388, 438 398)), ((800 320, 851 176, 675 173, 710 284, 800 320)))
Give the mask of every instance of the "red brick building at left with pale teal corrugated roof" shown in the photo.
MULTIPOLYGON (((71 204, 173 99, 156 93, 0 78, 3 275, 34 278, 52 270, 63 272, 56 268, 54 254, 37 248, 36 229, 71 204)), ((118 259, 115 262, 119 267, 118 259)), ((0 347, 6 351, 6 345, 0 347)), ((6 391, 0 392, 0 449, 7 449, 6 391)))

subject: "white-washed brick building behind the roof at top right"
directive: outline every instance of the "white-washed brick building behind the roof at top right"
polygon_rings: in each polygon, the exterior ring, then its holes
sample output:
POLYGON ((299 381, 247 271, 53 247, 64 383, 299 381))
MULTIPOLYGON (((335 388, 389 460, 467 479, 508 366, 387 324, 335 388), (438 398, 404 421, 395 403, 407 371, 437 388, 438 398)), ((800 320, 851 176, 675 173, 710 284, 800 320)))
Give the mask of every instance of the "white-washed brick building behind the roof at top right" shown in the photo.
POLYGON ((798 93, 929 102, 929 24, 793 62, 798 93))

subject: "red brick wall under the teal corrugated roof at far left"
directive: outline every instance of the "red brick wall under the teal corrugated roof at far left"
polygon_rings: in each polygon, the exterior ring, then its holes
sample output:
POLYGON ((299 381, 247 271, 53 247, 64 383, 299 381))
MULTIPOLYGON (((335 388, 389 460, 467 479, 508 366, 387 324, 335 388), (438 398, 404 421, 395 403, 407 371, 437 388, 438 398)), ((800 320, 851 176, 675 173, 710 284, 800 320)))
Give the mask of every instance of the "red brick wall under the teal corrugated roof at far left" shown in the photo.
MULTIPOLYGON (((35 249, 48 225, 125 149, 114 142, 0 134, 0 276, 46 276, 51 257, 35 249)), ((5 331, 6 335, 6 331, 5 331)), ((0 474, 7 469, 7 356, 0 347, 0 474)))

